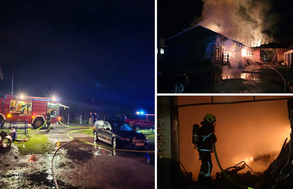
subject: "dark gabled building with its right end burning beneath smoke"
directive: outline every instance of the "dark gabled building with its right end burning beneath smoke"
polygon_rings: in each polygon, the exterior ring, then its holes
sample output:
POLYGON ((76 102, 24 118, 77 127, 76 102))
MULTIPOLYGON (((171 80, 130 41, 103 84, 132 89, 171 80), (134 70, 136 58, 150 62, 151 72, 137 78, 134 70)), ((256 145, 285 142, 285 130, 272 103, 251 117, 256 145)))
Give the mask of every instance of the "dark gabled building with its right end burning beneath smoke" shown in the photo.
POLYGON ((164 61, 180 68, 221 67, 246 64, 252 51, 241 42, 200 25, 165 41, 164 61))

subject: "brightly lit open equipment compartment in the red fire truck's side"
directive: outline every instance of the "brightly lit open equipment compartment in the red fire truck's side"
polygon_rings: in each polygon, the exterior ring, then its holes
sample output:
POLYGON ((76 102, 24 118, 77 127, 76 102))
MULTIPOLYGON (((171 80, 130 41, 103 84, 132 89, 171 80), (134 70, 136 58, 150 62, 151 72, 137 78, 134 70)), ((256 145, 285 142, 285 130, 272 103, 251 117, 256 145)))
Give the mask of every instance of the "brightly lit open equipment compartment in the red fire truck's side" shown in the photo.
POLYGON ((31 115, 32 101, 11 100, 9 113, 11 115, 31 115))

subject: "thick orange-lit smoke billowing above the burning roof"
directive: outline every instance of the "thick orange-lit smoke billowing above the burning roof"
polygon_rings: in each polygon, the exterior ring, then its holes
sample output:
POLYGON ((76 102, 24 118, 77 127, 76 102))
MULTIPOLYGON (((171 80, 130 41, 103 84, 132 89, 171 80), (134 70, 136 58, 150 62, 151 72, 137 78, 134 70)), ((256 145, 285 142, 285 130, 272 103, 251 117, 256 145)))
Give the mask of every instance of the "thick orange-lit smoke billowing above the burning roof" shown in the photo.
POLYGON ((202 1, 204 2, 202 16, 193 20, 192 27, 202 25, 249 47, 268 44, 269 40, 272 42, 271 28, 277 22, 277 15, 270 13, 272 9, 270 1, 202 1))

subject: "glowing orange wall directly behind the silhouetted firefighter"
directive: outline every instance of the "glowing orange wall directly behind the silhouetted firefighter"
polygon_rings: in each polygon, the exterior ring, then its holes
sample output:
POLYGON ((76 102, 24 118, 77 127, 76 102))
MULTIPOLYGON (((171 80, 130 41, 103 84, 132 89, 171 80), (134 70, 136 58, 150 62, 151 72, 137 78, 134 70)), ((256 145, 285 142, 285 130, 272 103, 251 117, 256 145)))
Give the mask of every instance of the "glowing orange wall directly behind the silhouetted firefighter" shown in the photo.
MULTIPOLYGON (((204 102, 211 102, 210 96, 178 96, 178 104, 188 101, 200 103, 201 99, 204 102)), ((252 100, 253 96, 217 96, 217 99, 216 101, 221 99, 242 101, 252 100)), ((194 180, 197 180, 201 161, 198 161, 198 152, 192 143, 192 130, 195 123, 200 125, 207 113, 217 117, 216 147, 219 161, 224 169, 246 161, 253 171, 265 171, 272 161, 251 160, 260 154, 271 154, 271 158, 274 159, 274 154, 280 153, 282 144, 291 132, 287 100, 180 107, 178 111, 180 162, 188 172, 193 173, 194 180)), ((214 153, 212 153, 212 163, 212 176, 215 176, 220 170, 214 153)), ((248 170, 245 168, 243 171, 248 170)))

